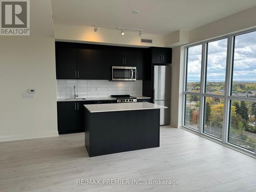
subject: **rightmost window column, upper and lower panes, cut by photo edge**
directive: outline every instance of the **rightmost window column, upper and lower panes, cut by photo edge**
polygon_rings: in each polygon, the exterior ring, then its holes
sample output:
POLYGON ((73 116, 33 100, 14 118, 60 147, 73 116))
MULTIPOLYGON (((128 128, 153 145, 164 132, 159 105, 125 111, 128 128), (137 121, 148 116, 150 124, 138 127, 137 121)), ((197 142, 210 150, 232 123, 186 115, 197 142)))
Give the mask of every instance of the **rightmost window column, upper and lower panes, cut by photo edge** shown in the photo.
POLYGON ((233 37, 228 142, 255 152, 256 31, 233 37))

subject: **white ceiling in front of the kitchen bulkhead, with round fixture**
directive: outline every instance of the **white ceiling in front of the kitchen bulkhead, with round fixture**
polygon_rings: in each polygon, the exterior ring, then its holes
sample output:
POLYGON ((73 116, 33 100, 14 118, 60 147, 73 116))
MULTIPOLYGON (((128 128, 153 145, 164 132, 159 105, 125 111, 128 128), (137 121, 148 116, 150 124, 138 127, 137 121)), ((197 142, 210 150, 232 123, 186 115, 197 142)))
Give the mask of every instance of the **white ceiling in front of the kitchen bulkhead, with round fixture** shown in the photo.
POLYGON ((117 26, 154 35, 192 30, 254 6, 255 0, 52 0, 54 25, 117 26))

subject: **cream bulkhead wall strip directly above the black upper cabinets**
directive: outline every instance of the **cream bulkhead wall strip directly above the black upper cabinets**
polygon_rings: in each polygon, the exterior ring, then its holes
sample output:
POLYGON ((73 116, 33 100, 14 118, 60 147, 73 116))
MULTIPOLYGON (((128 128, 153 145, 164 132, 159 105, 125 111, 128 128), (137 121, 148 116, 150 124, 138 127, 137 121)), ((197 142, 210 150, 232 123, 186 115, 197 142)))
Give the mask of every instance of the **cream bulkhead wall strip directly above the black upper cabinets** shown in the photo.
POLYGON ((55 38, 62 41, 82 41, 86 43, 120 45, 120 46, 145 46, 145 47, 164 47, 164 37, 159 35, 143 34, 141 37, 138 32, 125 31, 124 36, 120 30, 100 28, 97 33, 93 26, 65 26, 54 25, 55 38), (140 42, 140 38, 152 38, 153 44, 140 42))

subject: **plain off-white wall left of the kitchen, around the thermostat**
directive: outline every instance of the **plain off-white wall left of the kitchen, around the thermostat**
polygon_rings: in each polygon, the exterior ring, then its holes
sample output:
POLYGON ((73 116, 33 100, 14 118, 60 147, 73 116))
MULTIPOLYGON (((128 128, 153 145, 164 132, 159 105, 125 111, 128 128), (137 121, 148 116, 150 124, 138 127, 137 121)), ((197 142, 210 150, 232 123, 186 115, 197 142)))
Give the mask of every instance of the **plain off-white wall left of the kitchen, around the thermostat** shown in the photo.
POLYGON ((57 136, 54 38, 0 42, 0 141, 57 136), (29 88, 36 98, 22 98, 29 88))

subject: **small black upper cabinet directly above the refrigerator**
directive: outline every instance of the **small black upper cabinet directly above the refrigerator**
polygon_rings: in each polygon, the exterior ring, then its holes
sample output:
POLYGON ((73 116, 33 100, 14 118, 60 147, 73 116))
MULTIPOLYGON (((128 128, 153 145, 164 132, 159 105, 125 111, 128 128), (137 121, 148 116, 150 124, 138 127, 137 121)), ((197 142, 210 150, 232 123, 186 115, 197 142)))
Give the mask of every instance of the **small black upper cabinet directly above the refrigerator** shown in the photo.
POLYGON ((156 64, 169 64, 172 63, 172 49, 152 47, 152 63, 156 64))

